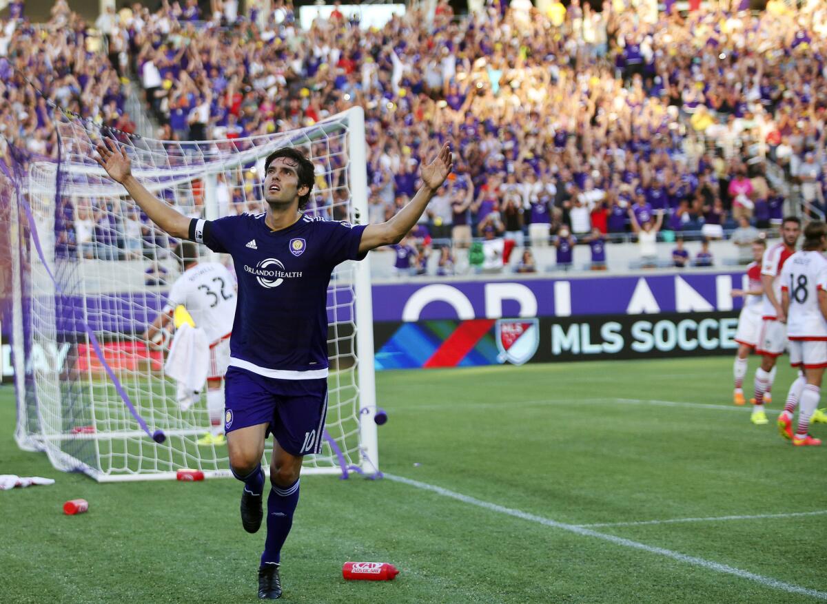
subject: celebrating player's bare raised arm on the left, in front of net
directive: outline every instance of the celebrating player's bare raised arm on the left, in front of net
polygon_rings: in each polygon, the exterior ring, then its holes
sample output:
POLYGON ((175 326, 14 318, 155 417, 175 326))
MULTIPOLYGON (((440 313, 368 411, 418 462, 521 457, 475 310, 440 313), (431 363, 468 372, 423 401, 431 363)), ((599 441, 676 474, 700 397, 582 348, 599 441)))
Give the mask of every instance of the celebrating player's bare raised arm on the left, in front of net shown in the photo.
POLYGON ((114 140, 104 139, 104 141, 105 145, 97 147, 99 157, 96 157, 95 161, 106 170, 109 178, 116 183, 121 183, 138 207, 141 207, 146 216, 160 226, 162 231, 177 239, 187 239, 190 219, 160 201, 132 176, 131 161, 127 156, 126 147, 121 146, 118 149, 114 140))

